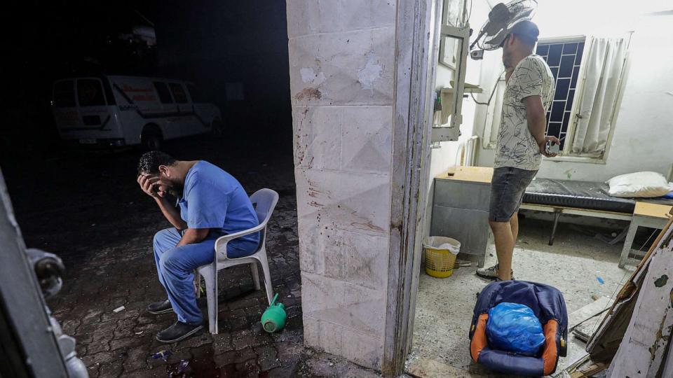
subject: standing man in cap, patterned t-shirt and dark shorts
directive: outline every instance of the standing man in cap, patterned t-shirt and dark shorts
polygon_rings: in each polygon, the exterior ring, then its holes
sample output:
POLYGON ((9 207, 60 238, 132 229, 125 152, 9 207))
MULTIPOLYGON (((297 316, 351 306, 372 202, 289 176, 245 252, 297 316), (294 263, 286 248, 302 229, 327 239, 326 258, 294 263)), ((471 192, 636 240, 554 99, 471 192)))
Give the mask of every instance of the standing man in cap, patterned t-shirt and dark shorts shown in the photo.
POLYGON ((524 192, 538 172, 542 155, 556 156, 547 153, 547 141, 560 144, 556 137, 545 136, 554 76, 545 60, 533 55, 539 34, 533 22, 524 20, 508 31, 502 44, 506 87, 489 208, 498 264, 477 269, 477 275, 487 279, 513 279, 512 253, 524 192))

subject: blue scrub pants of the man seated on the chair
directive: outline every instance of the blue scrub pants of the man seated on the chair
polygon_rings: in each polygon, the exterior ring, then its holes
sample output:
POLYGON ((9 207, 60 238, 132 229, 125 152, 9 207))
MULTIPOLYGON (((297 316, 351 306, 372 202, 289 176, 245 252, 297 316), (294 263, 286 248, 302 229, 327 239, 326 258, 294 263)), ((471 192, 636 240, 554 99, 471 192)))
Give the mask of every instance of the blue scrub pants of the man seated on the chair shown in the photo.
MULTIPOLYGON (((168 300, 178 321, 189 324, 203 322, 201 310, 196 305, 194 269, 212 262, 215 258, 215 240, 220 236, 222 235, 208 235, 200 243, 176 247, 182 239, 182 234, 177 229, 167 228, 154 235, 156 272, 159 282, 168 293, 168 300)), ((226 249, 229 258, 238 258, 254 253, 257 244, 232 241, 226 249)))

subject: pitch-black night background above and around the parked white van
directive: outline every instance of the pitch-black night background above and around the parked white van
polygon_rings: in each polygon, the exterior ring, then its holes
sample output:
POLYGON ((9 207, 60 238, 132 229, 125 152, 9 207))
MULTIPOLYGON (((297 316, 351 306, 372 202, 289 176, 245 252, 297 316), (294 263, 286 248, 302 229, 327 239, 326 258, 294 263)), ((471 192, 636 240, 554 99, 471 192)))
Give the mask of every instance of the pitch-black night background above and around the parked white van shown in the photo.
POLYGON ((0 163, 60 151, 53 80, 94 73, 192 80, 229 137, 291 148, 285 1, 25 1, 3 19, 0 163), (152 25, 155 47, 132 40, 133 27, 152 25), (242 85, 243 100, 227 98, 227 83, 242 85))

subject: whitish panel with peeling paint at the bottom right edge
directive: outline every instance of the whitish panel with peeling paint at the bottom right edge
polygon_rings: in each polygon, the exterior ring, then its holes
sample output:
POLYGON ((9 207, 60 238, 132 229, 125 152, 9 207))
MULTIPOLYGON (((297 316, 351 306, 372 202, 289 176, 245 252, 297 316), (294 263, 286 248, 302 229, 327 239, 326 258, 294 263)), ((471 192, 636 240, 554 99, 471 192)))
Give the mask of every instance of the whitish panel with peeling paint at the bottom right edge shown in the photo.
POLYGON ((673 251, 672 246, 664 244, 669 244, 671 232, 669 223, 664 242, 651 253, 651 263, 623 341, 610 365, 609 377, 655 377, 665 362, 673 327, 673 251))

